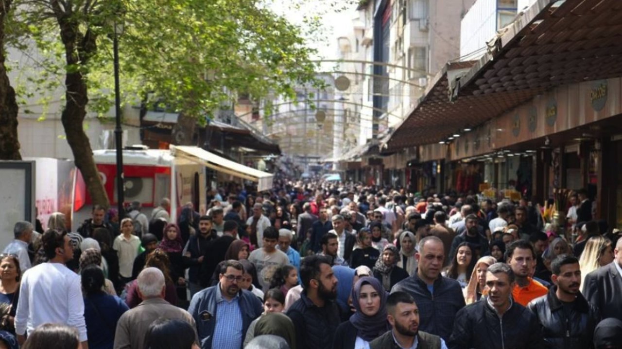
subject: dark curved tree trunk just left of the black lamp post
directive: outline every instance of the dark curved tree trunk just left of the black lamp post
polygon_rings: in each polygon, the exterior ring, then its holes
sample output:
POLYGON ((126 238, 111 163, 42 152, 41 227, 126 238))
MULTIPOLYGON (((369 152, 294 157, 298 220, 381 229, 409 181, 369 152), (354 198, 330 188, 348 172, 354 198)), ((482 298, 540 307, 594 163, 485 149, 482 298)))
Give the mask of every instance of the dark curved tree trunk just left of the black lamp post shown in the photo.
MULTIPOLYGON (((56 1, 53 1, 52 4, 55 7, 58 6, 56 1)), ((89 30, 86 30, 86 34, 81 34, 77 21, 72 20, 72 9, 65 9, 65 11, 58 7, 55 8, 60 26, 60 38, 65 45, 65 57, 67 59, 67 76, 65 78, 67 102, 61 120, 67 142, 72 148, 75 164, 82 173, 91 201, 93 204, 108 207, 108 195, 106 195, 100 173, 95 166, 91 143, 83 128, 86 104, 88 103, 85 64, 96 50, 95 35, 89 30)))

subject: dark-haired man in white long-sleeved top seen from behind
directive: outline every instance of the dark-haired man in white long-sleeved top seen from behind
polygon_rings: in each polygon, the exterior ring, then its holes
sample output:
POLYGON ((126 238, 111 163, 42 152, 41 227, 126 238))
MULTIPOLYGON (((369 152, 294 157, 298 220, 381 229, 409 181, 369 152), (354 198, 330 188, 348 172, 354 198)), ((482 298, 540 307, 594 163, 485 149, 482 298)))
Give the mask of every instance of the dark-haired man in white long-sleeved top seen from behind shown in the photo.
POLYGON ((73 259, 70 238, 65 232, 48 230, 41 240, 49 262, 22 276, 15 315, 17 342, 22 345, 26 332, 32 333, 39 325, 63 324, 78 329, 82 348, 88 349, 80 276, 65 266, 73 259))

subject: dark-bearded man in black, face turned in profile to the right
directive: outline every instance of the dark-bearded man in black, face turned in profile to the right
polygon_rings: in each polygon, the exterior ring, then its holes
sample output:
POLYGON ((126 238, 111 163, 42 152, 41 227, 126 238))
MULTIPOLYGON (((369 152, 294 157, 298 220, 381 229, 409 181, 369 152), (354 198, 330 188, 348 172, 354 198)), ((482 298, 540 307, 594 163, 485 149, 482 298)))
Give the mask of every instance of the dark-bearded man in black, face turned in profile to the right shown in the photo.
POLYGON ((303 291, 287 310, 296 331, 298 349, 331 349, 340 324, 337 278, 325 256, 308 256, 300 262, 303 291))

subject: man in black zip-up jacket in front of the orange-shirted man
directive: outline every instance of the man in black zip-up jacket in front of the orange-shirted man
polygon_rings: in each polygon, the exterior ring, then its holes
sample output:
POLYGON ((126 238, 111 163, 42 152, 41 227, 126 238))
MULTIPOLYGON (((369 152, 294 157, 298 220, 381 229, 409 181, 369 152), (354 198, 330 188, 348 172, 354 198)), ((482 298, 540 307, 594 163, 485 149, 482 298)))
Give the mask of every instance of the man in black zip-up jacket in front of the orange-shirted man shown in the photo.
POLYGON ((544 349, 536 315, 512 301, 514 272, 505 263, 494 263, 486 272, 488 297, 458 312, 450 349, 544 349))

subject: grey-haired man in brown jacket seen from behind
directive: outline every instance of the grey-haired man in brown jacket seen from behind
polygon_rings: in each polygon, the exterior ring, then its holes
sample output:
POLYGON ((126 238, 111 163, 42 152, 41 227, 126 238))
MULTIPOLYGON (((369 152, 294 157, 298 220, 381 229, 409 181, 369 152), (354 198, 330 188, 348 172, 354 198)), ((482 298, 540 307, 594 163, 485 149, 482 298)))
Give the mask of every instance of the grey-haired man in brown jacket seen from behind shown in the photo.
POLYGON ((114 349, 142 349, 149 325, 157 319, 187 321, 195 328, 195 320, 181 308, 164 300, 164 274, 158 268, 145 268, 136 279, 142 302, 121 315, 114 335, 114 349))

